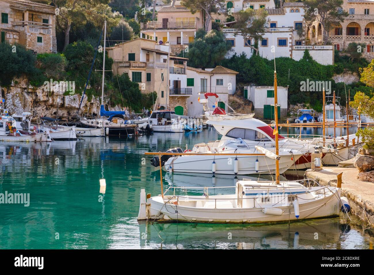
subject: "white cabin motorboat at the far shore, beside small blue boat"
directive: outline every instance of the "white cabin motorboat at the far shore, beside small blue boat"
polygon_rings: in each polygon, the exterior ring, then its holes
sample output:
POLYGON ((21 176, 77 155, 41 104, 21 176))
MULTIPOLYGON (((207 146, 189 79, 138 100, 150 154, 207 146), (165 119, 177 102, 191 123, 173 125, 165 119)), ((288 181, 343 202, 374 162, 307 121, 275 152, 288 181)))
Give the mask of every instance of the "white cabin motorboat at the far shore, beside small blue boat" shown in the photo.
POLYGON ((182 133, 184 128, 181 116, 170 110, 152 111, 149 124, 154 132, 182 133))

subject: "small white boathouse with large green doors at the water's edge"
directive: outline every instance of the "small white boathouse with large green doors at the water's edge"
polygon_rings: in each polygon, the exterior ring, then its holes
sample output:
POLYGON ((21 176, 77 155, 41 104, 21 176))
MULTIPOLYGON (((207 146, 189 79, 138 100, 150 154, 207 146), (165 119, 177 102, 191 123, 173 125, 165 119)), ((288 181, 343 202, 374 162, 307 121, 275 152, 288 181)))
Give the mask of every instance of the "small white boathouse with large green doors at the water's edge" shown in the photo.
MULTIPOLYGON (((278 118, 287 116, 288 87, 277 87, 278 118)), ((274 86, 245 86, 244 97, 252 101, 256 117, 274 119, 274 86)))

